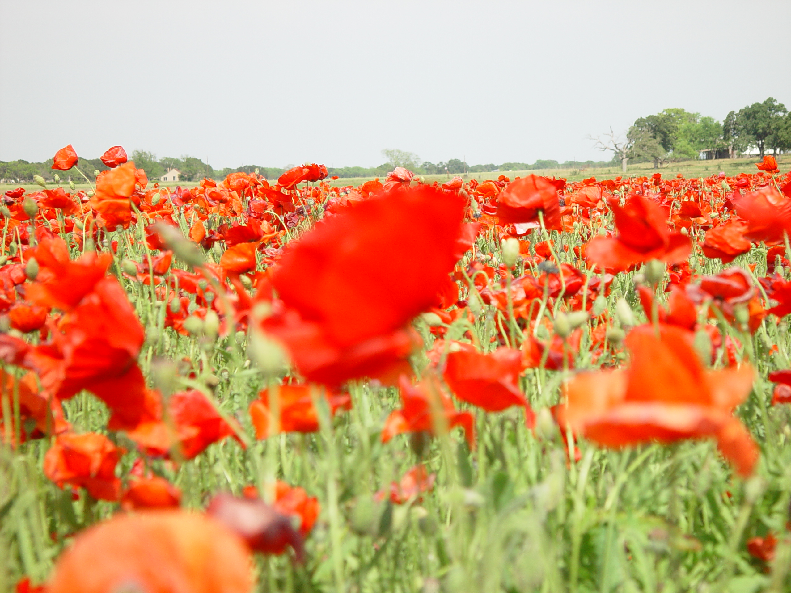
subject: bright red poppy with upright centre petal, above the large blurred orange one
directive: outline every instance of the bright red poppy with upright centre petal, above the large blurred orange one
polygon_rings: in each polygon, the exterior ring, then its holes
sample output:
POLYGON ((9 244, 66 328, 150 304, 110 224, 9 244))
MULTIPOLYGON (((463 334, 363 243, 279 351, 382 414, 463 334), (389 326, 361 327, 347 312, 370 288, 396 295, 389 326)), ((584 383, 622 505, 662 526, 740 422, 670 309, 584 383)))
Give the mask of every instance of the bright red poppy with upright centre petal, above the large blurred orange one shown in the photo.
POLYGON ((671 232, 667 213, 657 203, 639 195, 625 206, 611 205, 617 237, 597 236, 589 241, 585 258, 606 270, 628 270, 635 264, 659 259, 664 263, 683 262, 692 248, 689 237, 671 232))

